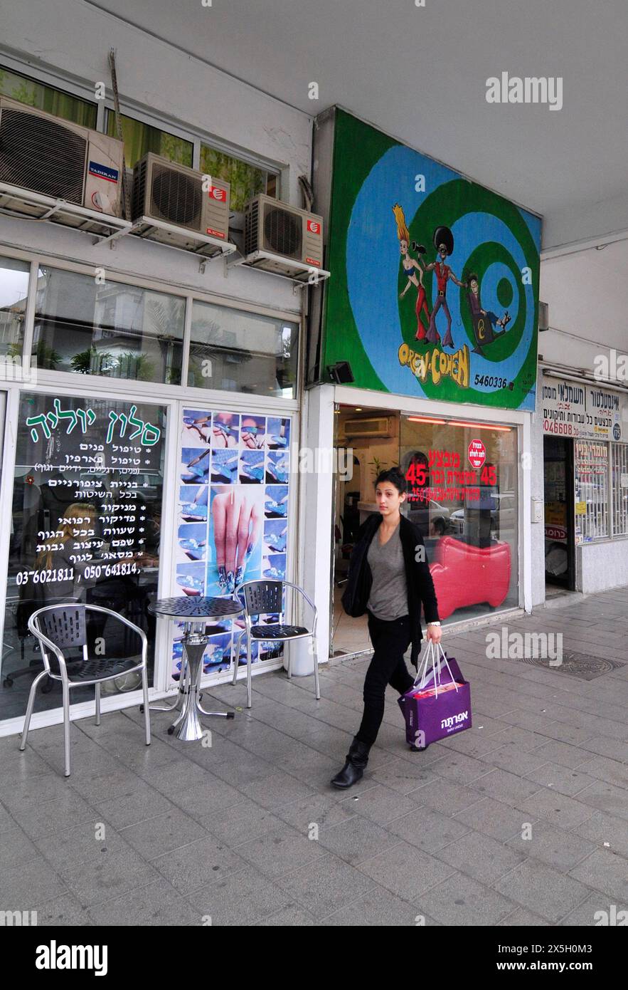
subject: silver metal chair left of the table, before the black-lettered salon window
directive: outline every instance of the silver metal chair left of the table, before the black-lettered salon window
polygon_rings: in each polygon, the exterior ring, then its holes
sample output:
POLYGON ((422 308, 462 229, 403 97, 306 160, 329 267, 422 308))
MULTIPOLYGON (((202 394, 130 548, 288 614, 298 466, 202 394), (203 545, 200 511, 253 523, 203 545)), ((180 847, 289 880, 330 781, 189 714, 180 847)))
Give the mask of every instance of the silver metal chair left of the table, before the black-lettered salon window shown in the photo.
POLYGON ((46 605, 43 609, 38 609, 29 619, 29 629, 40 642, 42 656, 44 658, 44 670, 38 674, 33 681, 29 704, 27 705, 26 718, 24 720, 24 731, 22 733, 22 743, 20 749, 26 748, 29 738, 29 727, 31 716, 35 705, 35 693, 38 684, 43 677, 51 677, 52 680, 60 680, 63 689, 63 735, 65 743, 65 776, 70 775, 70 689, 73 687, 84 687, 86 684, 94 684, 96 691, 96 725, 100 725, 100 685, 103 681, 113 680, 121 674, 131 673, 132 670, 141 671, 141 685, 143 689, 144 703, 144 728, 146 745, 150 745, 150 715, 148 710, 148 681, 146 677, 146 652, 147 640, 143 630, 135 626, 135 623, 125 619, 118 612, 112 609, 105 609, 100 605, 82 605, 70 602, 66 605, 46 605), (141 641, 141 660, 139 663, 135 659, 107 659, 105 656, 95 656, 90 658, 87 652, 87 624, 86 612, 98 612, 106 616, 112 616, 119 622, 129 626, 134 630, 141 641), (82 660, 68 660, 63 655, 62 650, 72 647, 82 647, 82 660), (52 654, 52 655, 50 655, 52 654), (80 663, 78 670, 73 669, 70 674, 67 671, 67 664, 75 666, 80 663))

